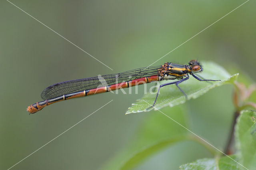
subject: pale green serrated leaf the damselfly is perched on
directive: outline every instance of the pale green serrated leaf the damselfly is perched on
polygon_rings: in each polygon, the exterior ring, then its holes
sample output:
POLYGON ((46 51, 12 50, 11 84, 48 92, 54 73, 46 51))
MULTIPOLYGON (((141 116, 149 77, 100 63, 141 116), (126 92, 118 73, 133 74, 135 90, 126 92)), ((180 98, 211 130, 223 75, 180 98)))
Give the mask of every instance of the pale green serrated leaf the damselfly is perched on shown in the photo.
MULTIPOLYGON (((238 74, 230 76, 230 74, 220 65, 217 65, 213 62, 202 62, 204 66, 204 71, 200 73, 201 77, 205 79, 220 79, 221 81, 215 82, 200 82, 194 77, 190 76, 190 79, 181 83, 179 86, 180 88, 186 93, 189 99, 196 99, 200 95, 203 95, 210 89, 223 85, 225 83, 233 83, 238 74)), ((173 80, 172 80, 173 81, 173 80)), ((160 83, 168 83, 170 81, 160 81, 160 83)), ((159 86, 159 85, 158 85, 159 86)), ((157 86, 157 88, 158 88, 157 86)), ((128 113, 138 113, 142 111, 150 111, 148 109, 153 103, 156 98, 156 93, 154 94, 146 94, 142 99, 139 99, 136 103, 132 104, 132 107, 128 108, 126 114, 128 113), (148 109, 148 110, 147 110, 148 109)), ((156 109, 161 109, 166 106, 176 106, 186 102, 186 98, 183 93, 176 87, 176 85, 169 85, 162 87, 160 93, 158 95, 156 101, 156 109)), ((153 108, 152 108, 153 109, 153 108)), ((155 109, 155 110, 156 110, 155 109)))

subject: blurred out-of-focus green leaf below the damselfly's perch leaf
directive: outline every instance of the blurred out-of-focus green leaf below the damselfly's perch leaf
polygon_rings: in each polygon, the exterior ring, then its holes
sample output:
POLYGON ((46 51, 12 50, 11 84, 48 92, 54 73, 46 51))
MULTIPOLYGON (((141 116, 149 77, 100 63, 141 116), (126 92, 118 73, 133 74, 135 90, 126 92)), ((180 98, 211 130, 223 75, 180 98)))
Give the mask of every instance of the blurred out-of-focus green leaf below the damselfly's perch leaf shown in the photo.
MULTIPOLYGON (((187 127, 187 109, 186 106, 180 105, 172 108, 170 112, 169 108, 164 108, 161 110, 166 115, 172 117, 175 121, 187 127)), ((129 115, 132 116, 132 115, 129 115)), ((165 115, 159 111, 153 111, 151 113, 143 115, 142 123, 137 127, 137 132, 133 137, 129 138, 126 147, 120 150, 116 156, 111 158, 102 169, 120 169, 126 164, 131 158, 136 156, 138 153, 147 150, 151 146, 157 145, 163 141, 180 140, 188 134, 188 131, 175 123, 174 121, 168 119, 165 115), (174 139, 176 138, 176 139, 174 139)), ((169 143, 170 144, 170 143, 169 143)), ((167 146, 167 145, 165 145, 167 146)), ((152 150, 144 152, 144 154, 138 154, 136 160, 132 161, 133 166, 136 164, 141 164, 145 158, 154 155, 155 152, 161 150, 161 146, 153 147, 152 150), (141 156, 141 157, 140 157, 141 156)))

